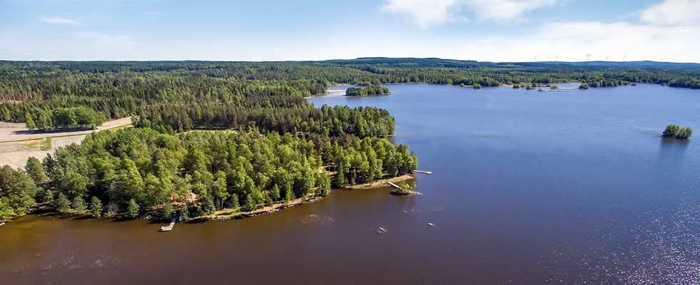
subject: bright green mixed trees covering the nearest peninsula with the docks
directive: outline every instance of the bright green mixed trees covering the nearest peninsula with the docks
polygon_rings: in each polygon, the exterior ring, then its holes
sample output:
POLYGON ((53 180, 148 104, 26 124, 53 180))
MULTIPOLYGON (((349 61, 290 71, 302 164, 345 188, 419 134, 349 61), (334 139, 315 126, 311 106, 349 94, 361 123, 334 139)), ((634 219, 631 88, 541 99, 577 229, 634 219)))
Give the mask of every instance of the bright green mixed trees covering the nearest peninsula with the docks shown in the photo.
POLYGON ((36 203, 94 217, 249 212, 327 195, 331 183, 343 187, 411 172, 417 163, 405 145, 348 134, 105 131, 43 161, 30 158, 24 171, 0 169, 0 218, 36 203))

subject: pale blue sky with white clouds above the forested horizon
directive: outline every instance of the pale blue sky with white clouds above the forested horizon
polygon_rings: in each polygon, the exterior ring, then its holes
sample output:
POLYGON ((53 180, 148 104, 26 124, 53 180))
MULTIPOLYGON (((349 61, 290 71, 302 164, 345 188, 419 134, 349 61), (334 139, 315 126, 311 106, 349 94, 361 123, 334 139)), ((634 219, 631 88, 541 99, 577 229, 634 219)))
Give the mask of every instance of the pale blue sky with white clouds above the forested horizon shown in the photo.
POLYGON ((700 0, 0 0, 0 59, 700 62, 700 0))

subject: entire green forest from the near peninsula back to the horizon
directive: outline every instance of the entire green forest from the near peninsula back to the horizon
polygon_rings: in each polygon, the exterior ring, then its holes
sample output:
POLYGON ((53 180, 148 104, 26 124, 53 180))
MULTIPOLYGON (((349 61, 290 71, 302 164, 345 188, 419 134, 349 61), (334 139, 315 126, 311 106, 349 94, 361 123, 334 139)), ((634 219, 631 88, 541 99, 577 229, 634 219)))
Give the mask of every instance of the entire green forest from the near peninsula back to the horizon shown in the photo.
POLYGON ((681 63, 438 58, 0 61, 2 121, 44 131, 133 116, 135 127, 93 133, 23 170, 1 167, 0 221, 33 209, 152 219, 250 212, 415 170, 409 148, 386 140, 395 129, 387 110, 304 99, 335 83, 700 88, 699 74, 698 65, 681 63))

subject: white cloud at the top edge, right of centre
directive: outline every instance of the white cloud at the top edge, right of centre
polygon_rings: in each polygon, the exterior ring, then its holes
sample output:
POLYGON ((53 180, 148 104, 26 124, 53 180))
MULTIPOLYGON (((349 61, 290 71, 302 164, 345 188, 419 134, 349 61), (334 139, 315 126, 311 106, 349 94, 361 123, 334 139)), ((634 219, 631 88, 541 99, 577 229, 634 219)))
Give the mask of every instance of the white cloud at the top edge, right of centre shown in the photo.
POLYGON ((382 11, 407 16, 420 28, 468 19, 512 21, 527 11, 553 6, 562 0, 387 0, 382 11))

